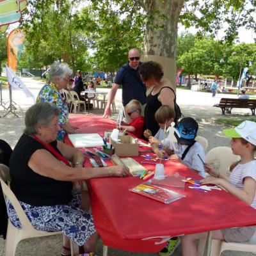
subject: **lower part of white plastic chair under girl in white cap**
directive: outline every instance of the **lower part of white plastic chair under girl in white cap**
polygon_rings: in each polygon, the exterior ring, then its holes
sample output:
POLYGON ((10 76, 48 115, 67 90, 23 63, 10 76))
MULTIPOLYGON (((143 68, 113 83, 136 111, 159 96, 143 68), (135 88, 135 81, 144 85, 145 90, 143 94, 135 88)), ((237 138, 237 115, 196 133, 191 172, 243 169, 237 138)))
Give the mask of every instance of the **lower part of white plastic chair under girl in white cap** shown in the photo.
MULTIPOLYGON (((205 239, 200 239, 198 244, 198 255, 204 254, 204 245, 205 239)), ((221 252, 225 250, 256 253, 256 232, 250 241, 244 243, 227 243, 225 241, 212 240, 210 256, 220 256, 221 252)))

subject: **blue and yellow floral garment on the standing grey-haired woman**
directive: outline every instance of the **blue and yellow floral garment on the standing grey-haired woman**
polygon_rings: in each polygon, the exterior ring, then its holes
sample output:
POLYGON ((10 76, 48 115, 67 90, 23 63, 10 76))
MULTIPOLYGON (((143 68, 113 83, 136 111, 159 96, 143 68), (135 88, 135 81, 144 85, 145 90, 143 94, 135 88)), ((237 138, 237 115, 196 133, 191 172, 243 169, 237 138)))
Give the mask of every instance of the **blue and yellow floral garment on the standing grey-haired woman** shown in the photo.
MULTIPOLYGON (((60 109, 60 125, 66 124, 68 122, 68 107, 62 99, 61 94, 55 84, 45 84, 42 87, 36 98, 36 102, 40 101, 47 101, 60 109)), ((61 130, 58 132, 57 140, 63 141, 65 134, 66 132, 61 128, 61 130)))

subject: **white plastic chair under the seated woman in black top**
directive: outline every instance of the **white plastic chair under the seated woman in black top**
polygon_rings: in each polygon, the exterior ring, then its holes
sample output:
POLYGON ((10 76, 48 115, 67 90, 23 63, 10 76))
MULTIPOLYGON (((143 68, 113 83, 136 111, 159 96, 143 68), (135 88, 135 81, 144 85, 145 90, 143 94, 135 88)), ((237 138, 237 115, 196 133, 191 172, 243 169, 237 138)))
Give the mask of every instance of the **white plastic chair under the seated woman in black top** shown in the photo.
POLYGON ((31 225, 30 221, 28 220, 28 217, 23 211, 16 196, 13 194, 12 190, 5 183, 5 182, 10 182, 10 173, 9 173, 9 168, 4 164, 0 164, 0 182, 3 189, 3 194, 12 203, 22 226, 21 229, 14 227, 11 221, 8 220, 8 229, 7 229, 4 256, 15 256, 17 244, 23 239, 61 234, 61 232, 44 232, 44 231, 36 230, 31 225))

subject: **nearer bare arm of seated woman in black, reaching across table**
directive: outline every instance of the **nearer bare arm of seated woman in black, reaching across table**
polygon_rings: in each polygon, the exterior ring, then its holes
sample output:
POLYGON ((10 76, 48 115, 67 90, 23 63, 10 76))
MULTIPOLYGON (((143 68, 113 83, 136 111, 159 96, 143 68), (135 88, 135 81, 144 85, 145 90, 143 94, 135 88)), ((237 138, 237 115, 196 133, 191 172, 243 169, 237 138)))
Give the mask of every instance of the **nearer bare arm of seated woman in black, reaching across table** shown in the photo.
POLYGON ((109 166, 106 168, 72 168, 56 159, 44 149, 36 150, 28 161, 28 166, 35 173, 56 180, 77 181, 96 177, 128 176, 125 166, 109 166))

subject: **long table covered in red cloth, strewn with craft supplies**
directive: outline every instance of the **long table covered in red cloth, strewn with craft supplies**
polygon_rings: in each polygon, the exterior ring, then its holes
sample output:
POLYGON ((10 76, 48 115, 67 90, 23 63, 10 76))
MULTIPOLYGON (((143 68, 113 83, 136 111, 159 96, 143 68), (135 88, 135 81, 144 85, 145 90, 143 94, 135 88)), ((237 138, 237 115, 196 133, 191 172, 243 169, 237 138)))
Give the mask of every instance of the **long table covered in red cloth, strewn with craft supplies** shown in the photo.
MULTIPOLYGON (((70 121, 77 125, 77 117, 71 116, 70 121)), ((79 122, 83 123, 84 132, 104 131, 101 128, 104 120, 99 116, 81 116, 79 122)), ((111 125, 109 120, 106 122, 111 125)), ((142 158, 134 159, 140 161, 142 158)), ((152 168, 152 165, 147 167, 152 168)), ((165 162, 164 170, 168 173, 179 172, 193 179, 200 178, 178 161, 165 162)), ((163 244, 154 244, 156 239, 141 239, 256 225, 255 209, 225 191, 203 193, 189 189, 186 184, 186 197, 165 205, 129 191, 140 183, 138 177, 89 180, 95 227, 105 245, 134 252, 157 252, 163 244)))

